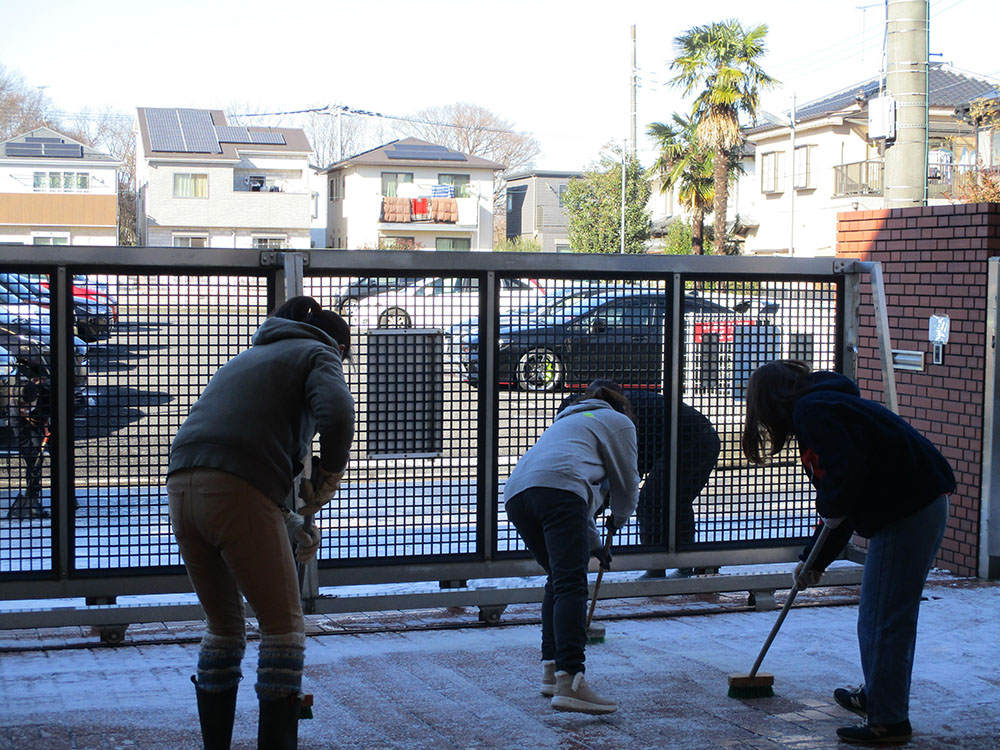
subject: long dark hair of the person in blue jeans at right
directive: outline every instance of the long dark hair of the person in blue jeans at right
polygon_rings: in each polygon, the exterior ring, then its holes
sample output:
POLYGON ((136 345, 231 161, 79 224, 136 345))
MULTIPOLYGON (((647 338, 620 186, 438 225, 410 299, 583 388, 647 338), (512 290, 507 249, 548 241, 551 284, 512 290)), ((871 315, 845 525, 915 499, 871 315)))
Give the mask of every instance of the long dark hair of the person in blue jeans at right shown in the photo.
POLYGON ((740 440, 751 463, 766 464, 785 447, 793 433, 792 410, 810 372, 809 365, 796 359, 778 359, 753 371, 740 440))

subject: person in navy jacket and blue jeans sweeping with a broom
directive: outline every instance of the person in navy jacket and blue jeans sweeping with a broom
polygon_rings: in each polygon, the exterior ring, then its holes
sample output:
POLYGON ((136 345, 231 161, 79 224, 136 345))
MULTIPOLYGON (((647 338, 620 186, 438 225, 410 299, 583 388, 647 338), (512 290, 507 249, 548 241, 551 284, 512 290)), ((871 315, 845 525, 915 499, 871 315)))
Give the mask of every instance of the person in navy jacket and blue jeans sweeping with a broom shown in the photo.
POLYGON ((833 528, 813 568, 796 568, 800 589, 819 582, 852 534, 869 539, 858 606, 864 684, 834 691, 836 702, 865 722, 837 735, 851 743, 904 742, 912 734, 920 596, 944 535, 955 476, 927 438, 861 398, 850 379, 811 372, 804 362, 769 362, 747 385, 743 453, 766 463, 793 436, 816 489, 816 510, 833 528))

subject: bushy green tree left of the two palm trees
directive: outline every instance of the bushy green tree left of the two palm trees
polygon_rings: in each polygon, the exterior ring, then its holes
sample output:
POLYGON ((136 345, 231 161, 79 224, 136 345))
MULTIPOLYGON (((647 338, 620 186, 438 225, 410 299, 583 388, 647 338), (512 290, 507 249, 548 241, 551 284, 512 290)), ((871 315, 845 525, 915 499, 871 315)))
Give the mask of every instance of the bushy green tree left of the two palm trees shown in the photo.
MULTIPOLYGON (((622 167, 602 155, 581 179, 570 180, 564 204, 570 245, 577 252, 617 253, 621 249, 622 167)), ((650 236, 646 204, 651 188, 636 159, 625 167, 625 252, 643 253, 650 236)))

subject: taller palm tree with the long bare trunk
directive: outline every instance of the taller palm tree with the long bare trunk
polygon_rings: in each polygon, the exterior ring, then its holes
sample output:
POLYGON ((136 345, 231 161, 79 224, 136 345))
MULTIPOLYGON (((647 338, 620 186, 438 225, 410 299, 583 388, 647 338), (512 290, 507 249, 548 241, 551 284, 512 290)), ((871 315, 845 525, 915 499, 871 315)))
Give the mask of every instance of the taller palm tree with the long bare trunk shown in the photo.
POLYGON ((674 39, 678 54, 670 67, 678 74, 672 83, 690 94, 701 89, 692 119, 698 139, 714 151, 715 252, 726 241, 726 208, 734 149, 742 142, 739 116, 753 117, 760 106, 760 92, 776 81, 760 67, 767 25, 744 29, 735 20, 695 26, 674 39))

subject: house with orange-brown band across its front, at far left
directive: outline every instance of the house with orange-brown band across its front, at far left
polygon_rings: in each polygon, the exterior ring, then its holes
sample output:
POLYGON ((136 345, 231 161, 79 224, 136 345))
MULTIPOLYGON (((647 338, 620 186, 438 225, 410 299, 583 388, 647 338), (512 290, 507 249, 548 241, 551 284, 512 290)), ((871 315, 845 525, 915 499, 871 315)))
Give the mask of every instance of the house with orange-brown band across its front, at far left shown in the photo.
POLYGON ((0 242, 117 245, 118 160, 50 128, 0 144, 0 242))

